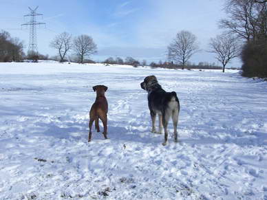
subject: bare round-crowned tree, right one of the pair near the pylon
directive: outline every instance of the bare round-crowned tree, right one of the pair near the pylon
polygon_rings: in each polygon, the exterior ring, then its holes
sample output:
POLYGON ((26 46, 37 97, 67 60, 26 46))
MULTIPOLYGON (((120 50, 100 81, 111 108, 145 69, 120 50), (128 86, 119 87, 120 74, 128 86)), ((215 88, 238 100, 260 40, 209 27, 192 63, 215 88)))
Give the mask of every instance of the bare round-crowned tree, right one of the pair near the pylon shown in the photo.
POLYGON ((91 36, 81 35, 74 38, 74 52, 78 56, 80 63, 83 63, 85 57, 95 54, 97 46, 91 36))

